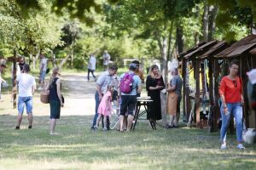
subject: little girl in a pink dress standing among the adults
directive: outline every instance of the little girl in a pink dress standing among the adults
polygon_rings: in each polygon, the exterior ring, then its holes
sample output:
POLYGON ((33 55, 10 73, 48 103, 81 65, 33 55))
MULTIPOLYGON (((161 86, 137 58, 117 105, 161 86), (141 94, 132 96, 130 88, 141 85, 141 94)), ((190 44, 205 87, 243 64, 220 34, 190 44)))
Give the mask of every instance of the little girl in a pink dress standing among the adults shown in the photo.
POLYGON ((98 118, 96 121, 96 128, 99 127, 99 122, 102 119, 102 116, 104 116, 104 128, 103 131, 107 131, 107 116, 109 117, 111 112, 112 112, 112 105, 111 105, 111 100, 112 100, 112 95, 113 95, 113 86, 108 85, 108 90, 106 94, 104 94, 102 101, 99 105, 98 108, 98 118))

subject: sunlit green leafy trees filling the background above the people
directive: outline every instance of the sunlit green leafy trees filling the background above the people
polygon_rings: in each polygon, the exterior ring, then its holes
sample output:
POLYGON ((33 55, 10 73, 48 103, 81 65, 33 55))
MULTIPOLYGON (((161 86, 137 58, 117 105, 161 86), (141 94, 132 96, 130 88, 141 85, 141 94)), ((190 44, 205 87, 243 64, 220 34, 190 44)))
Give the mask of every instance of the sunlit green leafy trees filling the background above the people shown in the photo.
POLYGON ((84 69, 89 54, 108 49, 123 58, 166 61, 200 41, 233 41, 255 27, 256 5, 242 0, 2 0, 0 55, 26 55, 36 67, 44 53, 53 65, 84 69))

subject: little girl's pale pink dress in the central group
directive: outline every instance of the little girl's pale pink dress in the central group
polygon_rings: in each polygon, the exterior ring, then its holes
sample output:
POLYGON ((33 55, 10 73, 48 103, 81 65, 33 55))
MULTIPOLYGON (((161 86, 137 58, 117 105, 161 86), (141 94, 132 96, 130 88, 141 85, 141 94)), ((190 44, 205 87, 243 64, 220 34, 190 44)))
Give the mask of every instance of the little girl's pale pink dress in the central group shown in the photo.
POLYGON ((112 112, 111 105, 111 93, 107 91, 106 94, 103 95, 102 101, 98 108, 98 114, 102 114, 103 116, 110 116, 112 112))

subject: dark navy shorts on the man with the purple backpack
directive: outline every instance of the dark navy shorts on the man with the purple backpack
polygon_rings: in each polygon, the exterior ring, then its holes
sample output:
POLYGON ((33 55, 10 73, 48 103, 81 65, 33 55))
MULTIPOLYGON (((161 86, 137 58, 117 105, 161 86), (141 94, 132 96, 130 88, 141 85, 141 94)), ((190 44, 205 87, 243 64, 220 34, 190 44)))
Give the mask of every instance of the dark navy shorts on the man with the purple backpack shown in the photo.
POLYGON ((120 115, 125 116, 128 109, 128 115, 134 116, 134 110, 137 102, 137 95, 122 95, 120 105, 120 115))

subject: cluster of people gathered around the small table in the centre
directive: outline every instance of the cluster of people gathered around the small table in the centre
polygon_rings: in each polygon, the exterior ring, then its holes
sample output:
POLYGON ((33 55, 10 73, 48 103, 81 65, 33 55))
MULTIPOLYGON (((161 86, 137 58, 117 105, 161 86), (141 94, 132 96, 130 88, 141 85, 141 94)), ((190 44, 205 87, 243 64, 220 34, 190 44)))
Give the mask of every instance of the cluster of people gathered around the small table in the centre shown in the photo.
MULTIPOLYGON (((120 77, 117 76, 118 67, 109 65, 108 71, 104 71, 96 81, 96 112, 92 123, 92 130, 98 129, 99 122, 104 117, 103 130, 109 129, 109 116, 112 112, 111 102, 118 101, 119 103, 119 131, 124 132, 131 130, 131 125, 134 120, 135 109, 137 105, 137 97, 142 91, 142 83, 144 82, 143 71, 139 70, 139 61, 134 60, 129 65, 129 71, 123 73, 120 77), (132 78, 131 91, 125 93, 122 91, 122 81, 127 77, 132 78), (124 125, 124 122, 125 125, 124 125), (126 126, 127 124, 127 126, 126 126)), ((125 80, 124 80, 125 79, 125 80)), ((124 82, 125 83, 125 82, 124 82)), ((153 101, 149 104, 147 119, 150 123, 156 124, 156 121, 162 118, 161 116, 161 100, 160 93, 165 89, 168 93, 171 106, 168 106, 168 113, 171 115, 170 123, 164 127, 177 127, 177 122, 180 112, 182 79, 178 75, 177 68, 172 70, 172 80, 168 83, 168 88, 165 86, 163 77, 157 65, 151 65, 150 73, 146 78, 146 89, 148 96, 153 101), (172 99, 173 96, 175 99, 172 99), (173 103, 175 102, 175 105, 173 103)), ((167 108, 166 108, 167 109, 167 108)))

